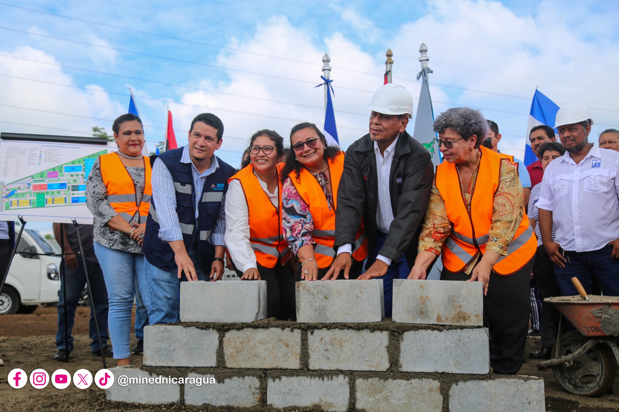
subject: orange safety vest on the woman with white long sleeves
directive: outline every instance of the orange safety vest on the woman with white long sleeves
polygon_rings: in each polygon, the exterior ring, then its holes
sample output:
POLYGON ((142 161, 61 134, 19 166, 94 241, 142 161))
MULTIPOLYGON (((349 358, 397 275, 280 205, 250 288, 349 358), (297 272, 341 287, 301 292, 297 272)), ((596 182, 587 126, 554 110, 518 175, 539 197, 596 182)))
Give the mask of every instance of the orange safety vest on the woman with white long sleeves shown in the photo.
MULTIPOLYGON (((283 167, 284 163, 277 164, 278 172, 283 167)), ((256 253, 256 261, 264 267, 275 267, 280 256, 284 259, 290 252, 282 232, 282 182, 277 179, 279 208, 275 208, 254 175, 253 164, 239 170, 228 179, 228 183, 235 179, 241 182, 245 192, 249 209, 249 242, 256 253)))

